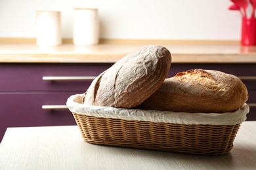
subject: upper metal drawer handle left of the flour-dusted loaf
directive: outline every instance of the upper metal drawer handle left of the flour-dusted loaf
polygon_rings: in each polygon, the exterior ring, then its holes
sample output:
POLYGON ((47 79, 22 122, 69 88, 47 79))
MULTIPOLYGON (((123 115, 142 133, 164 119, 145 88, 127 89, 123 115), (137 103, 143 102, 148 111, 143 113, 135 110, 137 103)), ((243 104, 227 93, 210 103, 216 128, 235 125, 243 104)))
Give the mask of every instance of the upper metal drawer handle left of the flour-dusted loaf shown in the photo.
POLYGON ((94 80, 96 76, 43 76, 46 81, 61 81, 61 80, 94 80))

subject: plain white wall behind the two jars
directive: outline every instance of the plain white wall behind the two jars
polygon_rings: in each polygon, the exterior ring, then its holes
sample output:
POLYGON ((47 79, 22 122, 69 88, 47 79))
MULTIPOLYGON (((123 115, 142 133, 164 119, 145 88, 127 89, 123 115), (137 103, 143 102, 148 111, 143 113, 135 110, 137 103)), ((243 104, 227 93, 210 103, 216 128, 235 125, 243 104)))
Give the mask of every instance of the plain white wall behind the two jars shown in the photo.
POLYGON ((104 39, 239 40, 242 17, 230 0, 0 0, 0 37, 35 37, 35 12, 60 10, 72 38, 73 9, 94 7, 104 39))

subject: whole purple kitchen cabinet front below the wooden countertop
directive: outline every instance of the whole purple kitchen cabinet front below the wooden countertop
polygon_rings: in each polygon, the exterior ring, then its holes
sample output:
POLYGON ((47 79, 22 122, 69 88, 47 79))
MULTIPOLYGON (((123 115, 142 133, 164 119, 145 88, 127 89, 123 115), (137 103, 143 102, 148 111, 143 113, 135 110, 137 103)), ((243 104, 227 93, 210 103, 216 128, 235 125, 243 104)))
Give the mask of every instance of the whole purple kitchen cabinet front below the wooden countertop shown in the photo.
MULTIPOLYGON (((43 80, 43 76, 98 76, 113 63, 0 63, 0 141, 7 127, 75 125, 68 109, 42 109, 66 105, 70 95, 84 93, 92 80, 43 80)), ((172 63, 170 76, 188 69, 214 69, 242 76, 250 112, 256 120, 255 63, 172 63)))

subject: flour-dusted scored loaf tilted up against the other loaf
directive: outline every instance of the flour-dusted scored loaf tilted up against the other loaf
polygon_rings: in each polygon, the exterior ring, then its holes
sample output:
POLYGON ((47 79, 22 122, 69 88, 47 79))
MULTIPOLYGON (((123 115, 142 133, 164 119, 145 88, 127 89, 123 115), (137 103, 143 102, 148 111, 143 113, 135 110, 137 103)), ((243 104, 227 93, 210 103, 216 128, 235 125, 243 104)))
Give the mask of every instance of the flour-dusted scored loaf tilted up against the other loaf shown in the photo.
POLYGON ((171 66, 167 48, 148 45, 127 54, 93 80, 86 105, 132 108, 160 88, 171 66))

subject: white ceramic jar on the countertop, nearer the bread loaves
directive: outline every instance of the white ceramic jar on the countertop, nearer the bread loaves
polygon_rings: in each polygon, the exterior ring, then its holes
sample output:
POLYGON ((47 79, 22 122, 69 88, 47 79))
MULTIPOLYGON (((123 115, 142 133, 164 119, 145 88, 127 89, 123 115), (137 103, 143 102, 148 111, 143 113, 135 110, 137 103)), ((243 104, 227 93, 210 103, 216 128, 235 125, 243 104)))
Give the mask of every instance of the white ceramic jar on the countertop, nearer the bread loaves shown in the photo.
POLYGON ((79 46, 98 44, 98 39, 98 10, 74 9, 74 44, 79 46))

